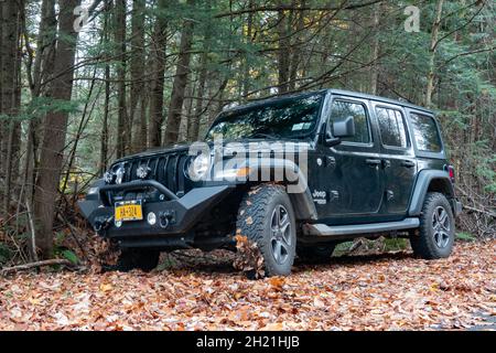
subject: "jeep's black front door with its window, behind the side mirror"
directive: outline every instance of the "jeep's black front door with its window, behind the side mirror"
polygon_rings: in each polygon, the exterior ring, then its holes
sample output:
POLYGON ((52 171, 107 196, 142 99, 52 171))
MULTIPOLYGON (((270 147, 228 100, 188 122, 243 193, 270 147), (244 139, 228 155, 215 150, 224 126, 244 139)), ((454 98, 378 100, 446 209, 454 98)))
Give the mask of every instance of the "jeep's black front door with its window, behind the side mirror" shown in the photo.
POLYGON ((384 178, 368 101, 335 96, 330 110, 327 127, 353 116, 356 133, 338 146, 323 147, 321 192, 327 193, 327 200, 319 207, 320 215, 327 224, 374 222, 382 202, 384 178))

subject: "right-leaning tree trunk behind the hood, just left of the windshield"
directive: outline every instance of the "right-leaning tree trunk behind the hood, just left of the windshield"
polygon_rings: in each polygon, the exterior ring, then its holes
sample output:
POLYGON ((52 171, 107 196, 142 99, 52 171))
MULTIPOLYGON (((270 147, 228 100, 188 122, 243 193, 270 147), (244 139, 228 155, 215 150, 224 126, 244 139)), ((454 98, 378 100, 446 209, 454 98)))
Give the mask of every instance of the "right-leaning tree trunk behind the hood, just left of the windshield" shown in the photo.
MULTIPOLYGON (((195 0, 188 0, 187 3, 193 7, 195 0)), ((181 113, 183 110, 184 92, 190 73, 191 46, 193 43, 193 22, 185 20, 183 32, 181 34, 180 53, 177 57, 177 67, 175 71, 174 83, 172 86, 171 103, 169 105, 168 127, 165 130, 164 145, 176 143, 181 125, 181 113)))

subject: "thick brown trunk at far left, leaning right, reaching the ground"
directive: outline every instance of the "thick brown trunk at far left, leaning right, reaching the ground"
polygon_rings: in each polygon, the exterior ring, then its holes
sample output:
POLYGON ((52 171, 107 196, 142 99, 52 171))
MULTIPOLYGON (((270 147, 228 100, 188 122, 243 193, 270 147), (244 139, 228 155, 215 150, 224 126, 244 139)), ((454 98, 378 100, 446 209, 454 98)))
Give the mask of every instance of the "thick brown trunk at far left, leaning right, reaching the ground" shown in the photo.
MULTIPOLYGON (((55 54, 54 79, 50 97, 71 100, 74 78, 77 32, 74 31, 74 9, 80 0, 65 0, 60 6, 60 31, 55 54)), ((55 200, 64 157, 67 132, 66 111, 51 111, 44 119, 44 138, 40 157, 40 173, 34 195, 34 214, 39 225, 36 246, 44 258, 53 253, 53 220, 55 200)))

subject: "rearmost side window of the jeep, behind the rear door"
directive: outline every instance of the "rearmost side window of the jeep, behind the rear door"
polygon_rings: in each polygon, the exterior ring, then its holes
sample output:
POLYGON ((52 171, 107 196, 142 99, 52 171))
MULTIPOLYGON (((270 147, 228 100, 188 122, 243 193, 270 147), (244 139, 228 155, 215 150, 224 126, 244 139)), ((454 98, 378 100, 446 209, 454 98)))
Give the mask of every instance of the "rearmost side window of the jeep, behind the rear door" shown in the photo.
POLYGON ((441 152, 441 137, 434 119, 425 115, 410 113, 410 121, 417 148, 425 152, 441 152))

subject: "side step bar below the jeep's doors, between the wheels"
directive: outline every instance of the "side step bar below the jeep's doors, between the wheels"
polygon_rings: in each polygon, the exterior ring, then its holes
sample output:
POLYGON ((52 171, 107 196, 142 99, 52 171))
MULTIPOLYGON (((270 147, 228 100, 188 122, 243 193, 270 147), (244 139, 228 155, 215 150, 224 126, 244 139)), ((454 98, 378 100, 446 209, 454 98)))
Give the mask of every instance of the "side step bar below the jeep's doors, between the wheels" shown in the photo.
POLYGON ((354 224, 354 225, 326 225, 326 224, 305 224, 303 232, 306 235, 313 236, 349 236, 367 234, 367 233, 384 233, 390 231, 402 231, 417 228, 420 225, 419 218, 405 218, 399 222, 386 222, 386 223, 368 223, 368 224, 354 224))

